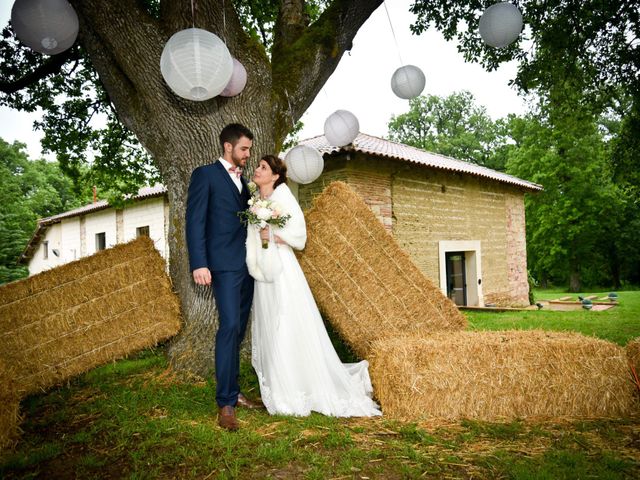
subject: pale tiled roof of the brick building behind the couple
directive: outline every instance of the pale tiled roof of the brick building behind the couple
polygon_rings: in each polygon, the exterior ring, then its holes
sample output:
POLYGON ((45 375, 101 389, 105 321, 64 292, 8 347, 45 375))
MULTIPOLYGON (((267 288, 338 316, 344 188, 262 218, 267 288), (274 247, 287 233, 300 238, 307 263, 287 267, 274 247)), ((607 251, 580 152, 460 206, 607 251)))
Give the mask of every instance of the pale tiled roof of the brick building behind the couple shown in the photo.
POLYGON ((521 178, 514 177, 513 175, 491 170, 490 168, 482 167, 475 163, 456 160, 455 158, 440 155, 438 153, 420 150, 419 148, 410 147, 409 145, 404 145, 402 143, 374 137, 372 135, 367 135, 366 133, 359 133, 353 143, 345 147, 329 145, 324 135, 309 138, 301 141, 300 143, 318 149, 323 155, 337 153, 340 151, 356 151, 370 155, 379 155, 381 157, 391 158, 394 160, 418 163, 441 170, 468 173, 470 175, 516 185, 531 191, 542 190, 542 185, 522 180, 521 178))

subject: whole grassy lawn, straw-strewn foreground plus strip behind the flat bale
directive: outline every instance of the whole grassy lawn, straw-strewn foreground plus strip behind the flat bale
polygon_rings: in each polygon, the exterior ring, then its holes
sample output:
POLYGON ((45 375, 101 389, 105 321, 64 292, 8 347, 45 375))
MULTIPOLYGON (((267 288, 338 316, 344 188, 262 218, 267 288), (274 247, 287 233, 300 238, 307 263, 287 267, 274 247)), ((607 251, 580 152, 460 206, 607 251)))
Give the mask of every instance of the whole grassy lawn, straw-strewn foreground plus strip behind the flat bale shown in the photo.
MULTIPOLYGON (((619 294, 605 312, 466 315, 477 330, 576 330, 624 344, 640 336, 640 292, 619 294)), ((247 364, 243 382, 255 396, 247 364)), ((640 478, 640 418, 401 423, 241 410, 241 430, 229 433, 216 424, 214 390, 173 378, 162 349, 95 369, 23 401, 23 433, 0 454, 0 477, 640 478)))

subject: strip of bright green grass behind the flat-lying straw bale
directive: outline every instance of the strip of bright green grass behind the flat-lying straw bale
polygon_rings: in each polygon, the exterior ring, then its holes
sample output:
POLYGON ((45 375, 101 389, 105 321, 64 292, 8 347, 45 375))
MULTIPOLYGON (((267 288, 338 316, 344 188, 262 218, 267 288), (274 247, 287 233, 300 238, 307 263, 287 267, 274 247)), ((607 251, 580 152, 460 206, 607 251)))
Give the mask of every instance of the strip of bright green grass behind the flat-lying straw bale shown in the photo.
MULTIPOLYGON (((537 290, 536 301, 553 300, 569 296, 560 290, 537 290)), ((571 294, 606 296, 608 292, 583 292, 571 294)), ((466 311, 465 316, 472 330, 559 330, 580 332, 596 336, 604 340, 626 345, 627 342, 640 336, 640 292, 618 292, 619 305, 609 310, 594 312, 589 310, 551 311, 528 310, 507 312, 466 311)))

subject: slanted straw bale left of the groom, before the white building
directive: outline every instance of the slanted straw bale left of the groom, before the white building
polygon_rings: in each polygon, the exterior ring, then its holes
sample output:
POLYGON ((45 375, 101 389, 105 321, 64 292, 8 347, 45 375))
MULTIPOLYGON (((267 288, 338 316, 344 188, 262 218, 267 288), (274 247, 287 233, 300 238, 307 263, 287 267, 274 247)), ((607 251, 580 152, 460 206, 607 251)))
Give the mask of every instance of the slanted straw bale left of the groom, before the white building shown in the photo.
POLYGON ((0 358, 47 389, 175 335, 180 308, 148 237, 0 287, 0 358))

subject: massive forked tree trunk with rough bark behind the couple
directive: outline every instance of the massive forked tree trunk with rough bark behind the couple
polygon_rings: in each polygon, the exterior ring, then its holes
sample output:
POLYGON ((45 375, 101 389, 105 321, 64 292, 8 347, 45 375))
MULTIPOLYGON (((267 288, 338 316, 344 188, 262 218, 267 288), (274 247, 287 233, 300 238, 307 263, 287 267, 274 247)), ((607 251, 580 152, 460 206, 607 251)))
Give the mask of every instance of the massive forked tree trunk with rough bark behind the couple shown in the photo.
MULTIPOLYGON (((231 0, 198 2, 196 26, 216 33, 246 68, 241 95, 191 102, 173 94, 160 73, 169 37, 192 26, 189 2, 162 1, 152 18, 129 0, 71 0, 80 40, 121 121, 151 152, 168 189, 170 274, 182 303, 183 327, 169 346, 176 370, 206 376, 213 368, 216 310, 210 288, 191 280, 185 242, 186 196, 194 168, 220 155, 218 134, 239 122, 254 135, 251 165, 278 153, 287 132, 311 104, 356 32, 382 0, 335 0, 313 25, 302 0, 283 0, 272 51, 240 25, 231 0)), ((250 165, 250 170, 251 170, 250 165)))

